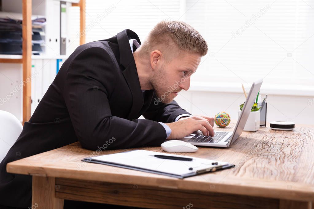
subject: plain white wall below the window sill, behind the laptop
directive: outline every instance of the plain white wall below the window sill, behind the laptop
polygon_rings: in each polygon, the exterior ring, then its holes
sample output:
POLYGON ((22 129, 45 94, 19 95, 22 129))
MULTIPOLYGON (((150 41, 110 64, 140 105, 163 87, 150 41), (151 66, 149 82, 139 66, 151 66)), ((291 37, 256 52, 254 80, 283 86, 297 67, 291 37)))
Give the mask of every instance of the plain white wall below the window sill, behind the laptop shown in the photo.
MULTIPOLYGON (((235 122, 239 105, 245 101, 245 96, 243 93, 189 90, 181 91, 175 100, 192 114, 214 117, 218 112, 225 111, 230 114, 231 121, 235 122)), ((298 124, 314 124, 313 97, 268 93, 267 103, 267 122, 289 120, 298 124)))

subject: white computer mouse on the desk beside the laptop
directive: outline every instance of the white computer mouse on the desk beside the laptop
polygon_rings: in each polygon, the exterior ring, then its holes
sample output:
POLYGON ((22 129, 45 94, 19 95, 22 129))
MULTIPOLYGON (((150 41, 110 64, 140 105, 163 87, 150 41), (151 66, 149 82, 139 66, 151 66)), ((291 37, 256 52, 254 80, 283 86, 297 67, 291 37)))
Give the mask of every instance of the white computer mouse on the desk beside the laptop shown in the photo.
POLYGON ((169 140, 160 146, 166 152, 196 152, 198 150, 193 144, 181 140, 169 140))

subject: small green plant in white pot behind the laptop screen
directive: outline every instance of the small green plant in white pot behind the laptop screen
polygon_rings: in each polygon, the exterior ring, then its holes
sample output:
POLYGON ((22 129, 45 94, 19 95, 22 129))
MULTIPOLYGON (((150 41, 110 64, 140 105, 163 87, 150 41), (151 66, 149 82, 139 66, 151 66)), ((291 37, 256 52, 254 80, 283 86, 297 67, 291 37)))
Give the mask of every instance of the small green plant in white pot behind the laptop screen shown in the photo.
MULTIPOLYGON (((238 111, 238 118, 240 117, 243 105, 244 103, 240 105, 240 110, 238 111)), ((257 103, 253 104, 249 117, 247 118, 247 121, 243 128, 243 131, 257 131, 259 129, 261 117, 261 111, 259 110, 260 108, 261 107, 257 106, 257 103)))

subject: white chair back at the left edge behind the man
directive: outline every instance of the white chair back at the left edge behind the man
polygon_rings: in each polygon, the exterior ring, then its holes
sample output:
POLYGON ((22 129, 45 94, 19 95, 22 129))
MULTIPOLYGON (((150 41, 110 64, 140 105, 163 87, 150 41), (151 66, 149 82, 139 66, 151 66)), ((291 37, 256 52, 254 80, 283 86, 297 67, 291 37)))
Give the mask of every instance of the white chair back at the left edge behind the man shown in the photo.
POLYGON ((0 162, 15 143, 22 129, 21 122, 13 114, 0 110, 0 162))

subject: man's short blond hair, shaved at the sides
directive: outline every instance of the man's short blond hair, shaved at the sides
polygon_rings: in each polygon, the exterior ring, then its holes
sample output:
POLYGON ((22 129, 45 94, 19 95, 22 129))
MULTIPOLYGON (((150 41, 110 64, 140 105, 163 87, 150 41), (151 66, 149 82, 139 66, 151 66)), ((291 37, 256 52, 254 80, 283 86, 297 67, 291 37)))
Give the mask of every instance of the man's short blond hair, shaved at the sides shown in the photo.
POLYGON ((189 24, 163 20, 149 32, 147 39, 138 50, 140 53, 149 54, 160 48, 167 50, 175 48, 204 56, 207 54, 208 45, 198 31, 189 24))

